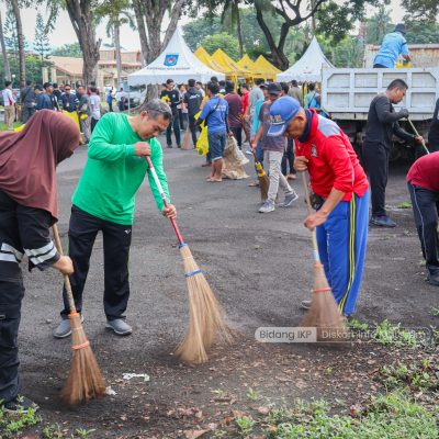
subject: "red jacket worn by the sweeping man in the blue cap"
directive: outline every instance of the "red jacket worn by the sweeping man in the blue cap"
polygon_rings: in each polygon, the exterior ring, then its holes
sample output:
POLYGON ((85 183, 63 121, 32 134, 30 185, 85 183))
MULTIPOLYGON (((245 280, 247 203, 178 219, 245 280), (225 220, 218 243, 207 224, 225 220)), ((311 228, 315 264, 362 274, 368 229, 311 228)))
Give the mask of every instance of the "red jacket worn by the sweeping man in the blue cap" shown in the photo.
POLYGON ((317 115, 313 110, 309 137, 296 140, 296 155, 305 156, 313 191, 324 199, 333 188, 345 192, 342 201, 352 193, 363 196, 369 189, 365 172, 358 161, 348 136, 333 121, 317 115))

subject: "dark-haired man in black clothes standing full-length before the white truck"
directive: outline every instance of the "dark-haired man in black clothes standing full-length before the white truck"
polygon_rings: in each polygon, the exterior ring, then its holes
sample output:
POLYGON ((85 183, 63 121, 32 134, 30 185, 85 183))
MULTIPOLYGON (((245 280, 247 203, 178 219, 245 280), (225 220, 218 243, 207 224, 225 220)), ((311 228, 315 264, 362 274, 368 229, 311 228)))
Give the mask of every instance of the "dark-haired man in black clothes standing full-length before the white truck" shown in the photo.
POLYGON ((370 104, 368 125, 363 146, 365 168, 369 173, 372 192, 371 224, 381 227, 395 227, 396 223, 385 211, 385 187, 387 185, 389 156, 392 147, 392 136, 415 145, 421 143, 404 131, 397 121, 408 116, 408 111, 402 109, 395 112, 393 104, 401 102, 408 89, 402 79, 393 80, 384 93, 378 94, 370 104))

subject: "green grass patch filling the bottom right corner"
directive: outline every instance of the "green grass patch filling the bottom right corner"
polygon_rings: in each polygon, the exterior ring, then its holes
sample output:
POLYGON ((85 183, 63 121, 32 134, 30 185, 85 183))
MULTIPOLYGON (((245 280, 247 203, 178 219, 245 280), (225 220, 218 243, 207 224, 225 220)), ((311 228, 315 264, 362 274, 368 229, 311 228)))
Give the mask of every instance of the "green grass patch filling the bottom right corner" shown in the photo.
POLYGON ((217 431, 214 437, 266 439, 432 439, 439 437, 439 410, 417 404, 405 391, 371 397, 365 408, 352 416, 330 415, 325 401, 272 408, 263 419, 241 415, 236 431, 217 431))

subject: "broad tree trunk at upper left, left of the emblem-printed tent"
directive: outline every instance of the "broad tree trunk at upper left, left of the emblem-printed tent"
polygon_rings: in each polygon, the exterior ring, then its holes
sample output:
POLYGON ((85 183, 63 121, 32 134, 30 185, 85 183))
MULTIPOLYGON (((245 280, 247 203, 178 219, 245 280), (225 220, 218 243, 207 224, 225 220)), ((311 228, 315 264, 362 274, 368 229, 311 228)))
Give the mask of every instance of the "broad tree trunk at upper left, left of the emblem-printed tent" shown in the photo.
POLYGON ((95 41, 91 0, 66 0, 67 12, 82 50, 82 83, 89 85, 97 79, 99 47, 101 40, 95 41))

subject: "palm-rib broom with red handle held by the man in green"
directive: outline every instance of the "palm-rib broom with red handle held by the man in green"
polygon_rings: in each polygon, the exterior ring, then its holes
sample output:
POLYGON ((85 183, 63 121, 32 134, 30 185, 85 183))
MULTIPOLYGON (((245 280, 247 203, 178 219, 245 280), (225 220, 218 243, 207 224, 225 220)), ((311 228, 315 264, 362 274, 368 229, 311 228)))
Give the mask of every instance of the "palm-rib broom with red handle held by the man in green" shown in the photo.
MULTIPOLYGON (((149 157, 145 157, 150 173, 160 192, 165 206, 168 206, 160 180, 149 157)), ((232 341, 232 333, 224 322, 224 312, 209 285, 203 272, 196 264, 188 244, 179 230, 175 218, 170 218, 180 245, 180 254, 183 259, 184 272, 189 292, 189 330, 178 346, 176 353, 189 364, 204 363, 209 360, 207 351, 217 337, 224 341, 232 341)))

